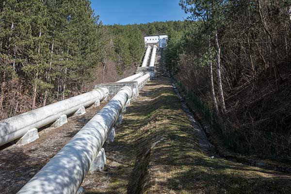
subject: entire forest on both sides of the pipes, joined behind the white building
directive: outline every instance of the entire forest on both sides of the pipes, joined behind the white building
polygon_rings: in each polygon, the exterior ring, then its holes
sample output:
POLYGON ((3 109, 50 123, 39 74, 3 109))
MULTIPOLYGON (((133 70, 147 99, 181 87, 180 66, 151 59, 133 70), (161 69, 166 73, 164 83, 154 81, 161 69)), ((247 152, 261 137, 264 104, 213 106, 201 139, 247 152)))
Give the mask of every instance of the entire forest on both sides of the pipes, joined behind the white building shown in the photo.
MULTIPOLYGON (((144 35, 232 151, 291 158, 291 1, 180 0, 186 21, 102 25, 89 0, 0 2, 0 119, 131 75, 144 35)), ((178 10, 177 10, 178 11, 178 10)))

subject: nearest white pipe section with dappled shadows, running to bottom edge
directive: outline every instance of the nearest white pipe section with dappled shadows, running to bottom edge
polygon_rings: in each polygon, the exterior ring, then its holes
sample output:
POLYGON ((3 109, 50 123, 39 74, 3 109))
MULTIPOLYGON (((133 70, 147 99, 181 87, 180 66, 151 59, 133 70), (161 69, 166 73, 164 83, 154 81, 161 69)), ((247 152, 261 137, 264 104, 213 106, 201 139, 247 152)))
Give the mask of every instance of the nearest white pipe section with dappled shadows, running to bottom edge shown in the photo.
POLYGON ((122 88, 17 194, 76 194, 130 97, 122 88))

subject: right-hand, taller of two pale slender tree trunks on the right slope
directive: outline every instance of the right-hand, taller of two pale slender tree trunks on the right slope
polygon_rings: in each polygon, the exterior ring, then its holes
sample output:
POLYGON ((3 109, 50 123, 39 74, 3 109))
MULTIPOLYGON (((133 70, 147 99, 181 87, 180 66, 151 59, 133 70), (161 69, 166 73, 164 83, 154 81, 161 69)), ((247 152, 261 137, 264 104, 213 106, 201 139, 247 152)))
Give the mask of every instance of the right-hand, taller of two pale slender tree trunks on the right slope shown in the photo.
POLYGON ((217 30, 215 29, 215 43, 216 43, 216 61, 217 61, 217 81, 218 81, 218 91, 221 101, 222 110, 226 112, 226 104, 223 95, 223 87, 221 81, 221 62, 220 62, 220 46, 218 42, 217 30))

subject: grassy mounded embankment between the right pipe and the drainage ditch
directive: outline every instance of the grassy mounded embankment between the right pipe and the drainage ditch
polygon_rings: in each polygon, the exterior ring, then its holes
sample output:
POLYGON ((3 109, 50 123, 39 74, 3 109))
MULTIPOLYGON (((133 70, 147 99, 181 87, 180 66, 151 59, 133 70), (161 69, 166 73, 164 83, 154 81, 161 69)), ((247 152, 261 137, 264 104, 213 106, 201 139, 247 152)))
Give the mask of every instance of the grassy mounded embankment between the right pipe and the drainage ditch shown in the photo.
POLYGON ((104 146, 104 172, 89 173, 91 194, 288 194, 291 176, 202 152, 167 78, 149 82, 104 146))

